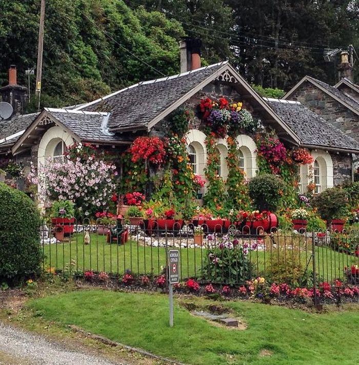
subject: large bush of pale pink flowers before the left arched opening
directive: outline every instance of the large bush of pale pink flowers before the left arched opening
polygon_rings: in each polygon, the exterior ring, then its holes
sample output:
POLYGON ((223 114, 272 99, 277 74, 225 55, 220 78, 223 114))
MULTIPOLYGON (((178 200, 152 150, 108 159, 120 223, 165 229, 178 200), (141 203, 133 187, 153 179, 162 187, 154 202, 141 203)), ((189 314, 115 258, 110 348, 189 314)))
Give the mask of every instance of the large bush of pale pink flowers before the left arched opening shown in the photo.
POLYGON ((45 165, 34 165, 28 179, 39 186, 42 201, 71 200, 83 210, 85 215, 92 208, 108 204, 115 189, 116 166, 97 160, 93 156, 86 159, 67 157, 63 162, 49 158, 45 165))

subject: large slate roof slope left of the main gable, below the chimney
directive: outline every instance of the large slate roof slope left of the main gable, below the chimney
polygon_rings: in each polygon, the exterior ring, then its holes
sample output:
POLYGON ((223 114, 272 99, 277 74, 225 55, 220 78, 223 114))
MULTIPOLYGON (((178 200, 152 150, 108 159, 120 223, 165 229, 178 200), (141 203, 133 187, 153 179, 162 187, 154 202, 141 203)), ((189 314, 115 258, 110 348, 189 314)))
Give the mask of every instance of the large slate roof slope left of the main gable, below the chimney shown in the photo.
POLYGON ((153 118, 226 64, 135 84, 77 110, 111 112, 110 130, 146 129, 153 118))

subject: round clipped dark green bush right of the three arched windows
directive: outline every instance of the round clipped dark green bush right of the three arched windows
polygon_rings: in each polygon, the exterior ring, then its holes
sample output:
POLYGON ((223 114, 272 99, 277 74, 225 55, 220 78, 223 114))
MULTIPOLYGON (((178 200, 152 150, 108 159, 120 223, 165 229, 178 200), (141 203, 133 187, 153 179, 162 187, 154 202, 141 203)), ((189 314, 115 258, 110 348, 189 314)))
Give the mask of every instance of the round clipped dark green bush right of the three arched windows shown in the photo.
POLYGON ((283 181, 275 175, 257 175, 248 185, 249 196, 258 210, 275 212, 283 195, 283 187, 283 181))

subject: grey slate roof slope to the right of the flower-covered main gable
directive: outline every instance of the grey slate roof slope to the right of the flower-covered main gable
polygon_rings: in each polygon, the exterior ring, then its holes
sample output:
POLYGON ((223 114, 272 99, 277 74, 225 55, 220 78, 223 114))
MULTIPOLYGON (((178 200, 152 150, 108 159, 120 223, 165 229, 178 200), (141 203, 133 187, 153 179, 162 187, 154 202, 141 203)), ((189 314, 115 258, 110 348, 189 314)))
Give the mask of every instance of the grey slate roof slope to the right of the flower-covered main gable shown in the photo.
POLYGON ((359 151, 359 143, 299 102, 264 98, 300 137, 302 145, 359 151))

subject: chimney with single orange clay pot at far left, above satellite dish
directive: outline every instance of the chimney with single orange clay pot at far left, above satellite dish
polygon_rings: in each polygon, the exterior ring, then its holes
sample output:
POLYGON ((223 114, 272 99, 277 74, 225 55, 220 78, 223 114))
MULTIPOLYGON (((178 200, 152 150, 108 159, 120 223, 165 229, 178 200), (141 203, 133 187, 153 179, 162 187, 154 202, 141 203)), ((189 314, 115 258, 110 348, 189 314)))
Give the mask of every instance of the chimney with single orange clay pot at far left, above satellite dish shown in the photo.
POLYGON ((17 71, 16 66, 11 65, 9 68, 9 82, 8 85, 0 88, 0 101, 12 105, 13 115, 23 114, 27 97, 27 88, 25 86, 17 85, 17 71))

